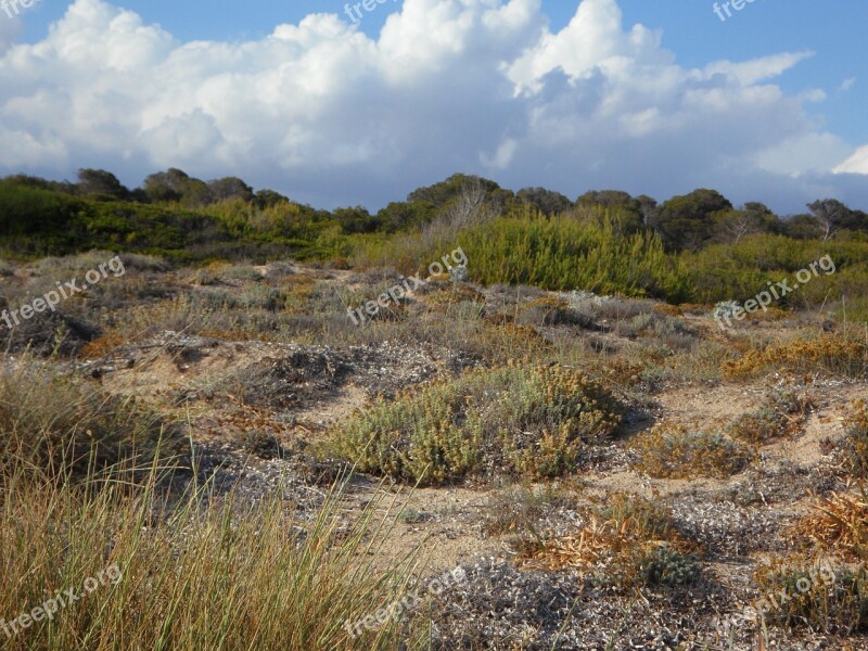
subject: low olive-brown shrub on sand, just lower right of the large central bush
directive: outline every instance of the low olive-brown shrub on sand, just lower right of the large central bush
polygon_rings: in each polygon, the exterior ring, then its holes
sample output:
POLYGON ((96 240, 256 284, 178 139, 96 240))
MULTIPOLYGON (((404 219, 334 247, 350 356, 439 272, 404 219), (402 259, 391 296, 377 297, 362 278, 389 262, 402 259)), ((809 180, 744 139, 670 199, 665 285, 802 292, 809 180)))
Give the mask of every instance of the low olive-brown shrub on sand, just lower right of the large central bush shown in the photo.
POLYGON ((723 434, 675 423, 662 423, 640 434, 630 448, 637 454, 634 468, 652 477, 671 480, 698 475, 726 478, 743 470, 753 458, 723 434))

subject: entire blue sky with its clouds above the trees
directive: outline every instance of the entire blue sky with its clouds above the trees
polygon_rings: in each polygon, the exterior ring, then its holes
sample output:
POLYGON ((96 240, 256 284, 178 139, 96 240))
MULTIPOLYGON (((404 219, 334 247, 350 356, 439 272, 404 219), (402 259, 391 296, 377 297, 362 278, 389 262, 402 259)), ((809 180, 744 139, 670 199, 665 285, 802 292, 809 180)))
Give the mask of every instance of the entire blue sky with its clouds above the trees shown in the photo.
POLYGON ((868 209, 864 0, 25 1, 0 0, 0 176, 868 209))

